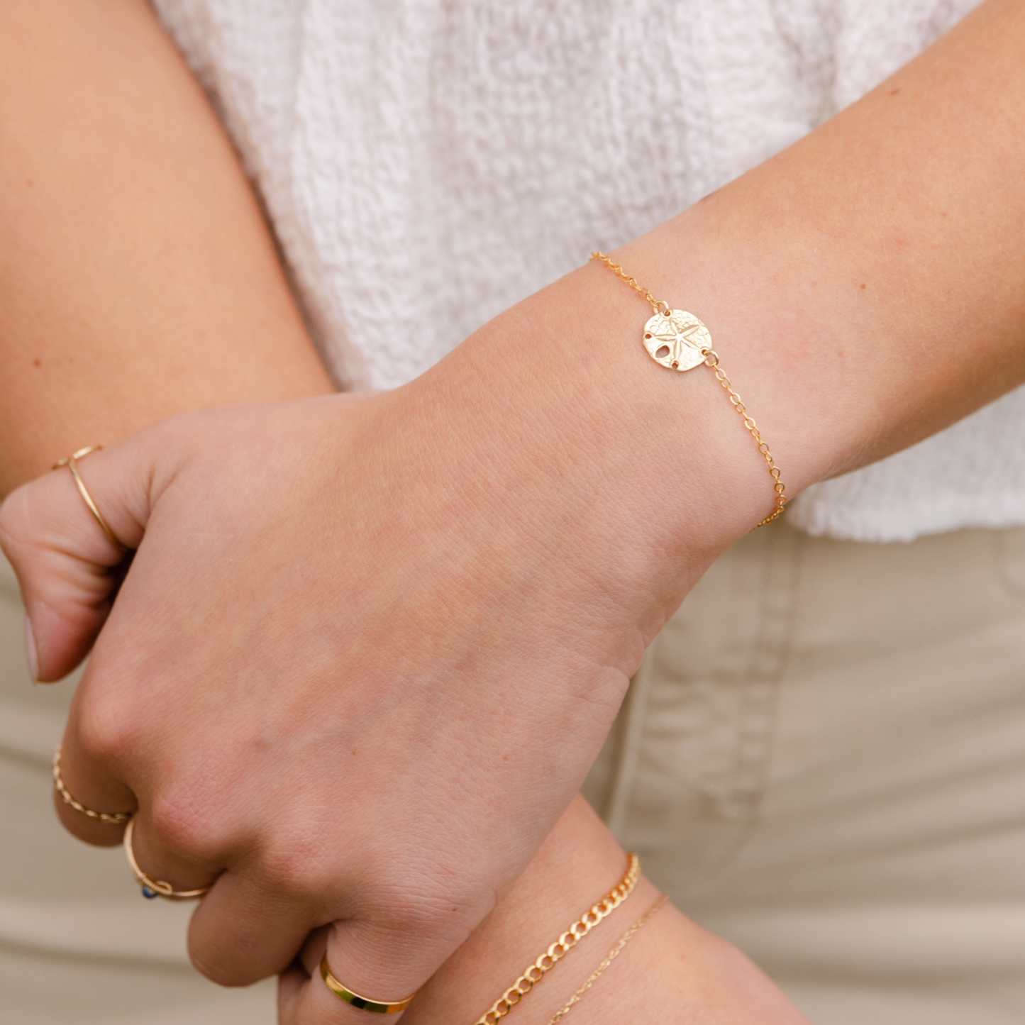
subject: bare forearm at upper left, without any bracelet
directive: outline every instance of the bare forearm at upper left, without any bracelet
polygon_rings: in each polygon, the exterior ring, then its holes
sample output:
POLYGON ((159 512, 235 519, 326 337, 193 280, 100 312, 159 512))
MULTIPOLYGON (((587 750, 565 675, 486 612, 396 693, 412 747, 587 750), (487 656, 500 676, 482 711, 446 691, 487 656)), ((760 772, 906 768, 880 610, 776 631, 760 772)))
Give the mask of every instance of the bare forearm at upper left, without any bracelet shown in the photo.
POLYGON ((169 413, 330 391, 142 0, 0 6, 0 496, 169 413))

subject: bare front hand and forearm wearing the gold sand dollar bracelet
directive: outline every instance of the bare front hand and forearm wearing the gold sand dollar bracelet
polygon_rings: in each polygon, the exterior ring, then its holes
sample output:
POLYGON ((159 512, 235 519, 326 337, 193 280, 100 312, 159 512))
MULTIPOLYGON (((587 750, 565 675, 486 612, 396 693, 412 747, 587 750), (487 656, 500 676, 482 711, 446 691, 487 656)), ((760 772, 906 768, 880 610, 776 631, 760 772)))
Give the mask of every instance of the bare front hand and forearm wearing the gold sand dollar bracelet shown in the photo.
MULTIPOLYGON (((1023 46, 1025 8, 990 0, 614 254, 708 325, 788 494, 1025 379, 1023 46)), ((137 802, 154 874, 216 878, 190 934, 211 978, 281 971, 333 922, 347 985, 423 984, 559 821, 646 644, 772 507, 714 378, 630 341, 649 315, 589 265, 396 392, 188 414, 89 457, 139 547, 65 775, 137 802)), ((15 491, 0 537, 54 679, 119 554, 67 475, 15 491)), ((285 1021, 362 1020, 314 982, 285 1021)))

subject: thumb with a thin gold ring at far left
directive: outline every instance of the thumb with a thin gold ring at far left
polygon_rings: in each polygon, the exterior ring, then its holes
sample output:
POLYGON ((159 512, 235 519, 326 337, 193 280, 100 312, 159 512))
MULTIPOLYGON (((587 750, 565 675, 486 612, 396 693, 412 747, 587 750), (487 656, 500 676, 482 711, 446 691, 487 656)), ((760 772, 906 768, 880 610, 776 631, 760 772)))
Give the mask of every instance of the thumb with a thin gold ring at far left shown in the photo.
POLYGON ((138 546, 150 516, 151 446, 137 436, 10 493, 0 505, 0 548, 10 560, 26 608, 26 646, 34 679, 66 676, 88 654, 138 546))

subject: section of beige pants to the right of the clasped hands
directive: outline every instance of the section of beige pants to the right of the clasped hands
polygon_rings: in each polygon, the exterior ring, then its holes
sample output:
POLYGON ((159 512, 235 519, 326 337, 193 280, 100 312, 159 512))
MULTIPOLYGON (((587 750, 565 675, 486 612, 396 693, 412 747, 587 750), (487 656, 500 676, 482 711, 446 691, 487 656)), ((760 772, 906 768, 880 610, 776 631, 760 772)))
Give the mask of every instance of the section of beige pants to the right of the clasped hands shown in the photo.
POLYGON ((587 795, 819 1025, 1025 1022, 1025 530, 749 535, 587 795))

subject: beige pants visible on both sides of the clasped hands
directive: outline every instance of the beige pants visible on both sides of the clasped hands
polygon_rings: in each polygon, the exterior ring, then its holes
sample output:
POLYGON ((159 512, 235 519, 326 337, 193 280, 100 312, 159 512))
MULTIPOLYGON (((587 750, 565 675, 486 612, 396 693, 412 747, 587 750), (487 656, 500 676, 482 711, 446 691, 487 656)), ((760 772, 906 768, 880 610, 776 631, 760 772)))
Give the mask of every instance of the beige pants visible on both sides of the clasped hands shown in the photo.
MULTIPOLYGON (((273 984, 200 979, 189 909, 56 825, 70 691, 29 686, 0 576, 0 1025, 269 1025, 273 984)), ((652 646, 586 789, 819 1025, 1025 1022, 1025 531, 749 535, 652 646)))

